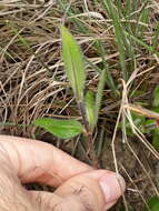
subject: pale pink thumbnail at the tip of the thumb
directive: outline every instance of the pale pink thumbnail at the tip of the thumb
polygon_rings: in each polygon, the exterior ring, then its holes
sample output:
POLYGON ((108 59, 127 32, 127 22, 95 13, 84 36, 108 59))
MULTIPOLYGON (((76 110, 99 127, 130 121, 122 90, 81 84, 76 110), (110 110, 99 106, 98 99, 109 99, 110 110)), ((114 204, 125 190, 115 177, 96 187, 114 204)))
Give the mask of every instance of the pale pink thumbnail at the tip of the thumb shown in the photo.
POLYGON ((117 200, 125 191, 126 183, 120 174, 110 173, 99 179, 99 184, 106 198, 106 203, 117 200))

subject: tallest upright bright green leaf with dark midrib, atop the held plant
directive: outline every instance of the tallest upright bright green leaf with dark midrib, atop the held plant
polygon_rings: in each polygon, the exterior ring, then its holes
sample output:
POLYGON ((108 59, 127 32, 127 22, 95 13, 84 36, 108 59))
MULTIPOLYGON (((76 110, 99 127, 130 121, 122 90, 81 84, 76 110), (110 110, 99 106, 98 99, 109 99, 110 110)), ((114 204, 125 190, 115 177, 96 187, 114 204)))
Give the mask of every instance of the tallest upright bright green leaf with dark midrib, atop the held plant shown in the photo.
POLYGON ((78 101, 83 100, 86 70, 80 47, 66 27, 61 27, 62 57, 67 77, 78 101))

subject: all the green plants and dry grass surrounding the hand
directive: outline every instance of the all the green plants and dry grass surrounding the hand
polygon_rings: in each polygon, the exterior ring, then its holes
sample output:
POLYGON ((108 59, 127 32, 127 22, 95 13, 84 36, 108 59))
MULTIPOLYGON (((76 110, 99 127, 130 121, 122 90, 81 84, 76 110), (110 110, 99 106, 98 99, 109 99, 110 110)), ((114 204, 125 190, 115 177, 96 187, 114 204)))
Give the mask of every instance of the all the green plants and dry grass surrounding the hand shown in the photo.
POLYGON ((0 2, 1 133, 120 172, 127 191, 112 210, 159 207, 158 7, 0 2))

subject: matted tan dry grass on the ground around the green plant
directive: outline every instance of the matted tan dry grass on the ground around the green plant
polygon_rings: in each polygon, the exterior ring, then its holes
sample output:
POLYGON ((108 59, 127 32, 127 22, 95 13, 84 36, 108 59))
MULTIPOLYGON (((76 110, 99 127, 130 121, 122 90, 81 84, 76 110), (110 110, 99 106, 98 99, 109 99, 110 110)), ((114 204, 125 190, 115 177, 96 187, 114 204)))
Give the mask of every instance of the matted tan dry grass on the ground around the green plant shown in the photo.
POLYGON ((81 119, 63 72, 59 34, 61 23, 69 27, 87 57, 87 88, 97 91, 99 72, 105 68, 105 62, 108 63, 115 87, 106 86, 95 145, 101 167, 119 171, 128 183, 123 202, 120 201, 113 210, 120 210, 122 203, 126 210, 130 207, 141 210, 148 197, 159 195, 159 154, 138 131, 131 113, 125 108, 126 103, 137 101, 148 108, 151 105, 151 93, 159 80, 158 9, 158 1, 147 4, 138 1, 138 8, 130 11, 128 19, 120 17, 128 32, 135 30, 135 37, 129 40, 132 49, 126 49, 127 44, 130 47, 128 40, 123 40, 126 46, 121 49, 113 31, 115 22, 102 1, 0 2, 1 133, 43 139, 90 162, 88 149, 80 138, 61 142, 29 124, 42 117, 81 119), (145 9, 149 12, 146 20, 141 19, 145 9), (105 53, 97 48, 97 40, 105 53), (122 51, 125 57, 121 57, 122 51), (125 68, 127 76, 123 76, 125 68), (136 133, 133 140, 126 134, 126 118, 136 133), (117 128, 121 120, 123 127, 120 132, 117 128))

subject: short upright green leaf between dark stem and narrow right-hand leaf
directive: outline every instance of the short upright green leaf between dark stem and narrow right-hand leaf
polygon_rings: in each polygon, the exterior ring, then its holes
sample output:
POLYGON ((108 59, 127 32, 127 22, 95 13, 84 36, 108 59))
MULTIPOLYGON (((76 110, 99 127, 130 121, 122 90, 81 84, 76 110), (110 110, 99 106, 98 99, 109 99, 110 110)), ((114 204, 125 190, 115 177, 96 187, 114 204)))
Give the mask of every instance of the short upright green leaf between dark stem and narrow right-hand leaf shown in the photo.
POLYGON ((86 113, 87 113, 87 119, 90 125, 90 130, 92 131, 93 125, 95 125, 95 98, 93 98, 93 92, 88 91, 86 94, 86 113))

